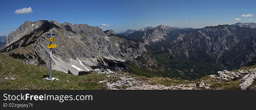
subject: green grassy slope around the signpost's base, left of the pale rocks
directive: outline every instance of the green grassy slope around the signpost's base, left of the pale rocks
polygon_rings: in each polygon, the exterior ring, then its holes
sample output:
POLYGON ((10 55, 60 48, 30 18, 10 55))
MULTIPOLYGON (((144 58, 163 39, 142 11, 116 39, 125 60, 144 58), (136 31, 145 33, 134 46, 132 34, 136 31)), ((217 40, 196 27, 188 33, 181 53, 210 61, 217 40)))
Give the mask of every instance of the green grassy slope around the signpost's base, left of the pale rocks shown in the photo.
POLYGON ((25 64, 0 53, 0 89, 24 89, 24 86, 29 89, 106 89, 106 83, 98 83, 106 78, 106 74, 92 72, 76 76, 53 70, 52 77, 60 81, 45 81, 42 77, 47 75, 48 68, 25 64), (16 79, 5 80, 5 77, 16 79))

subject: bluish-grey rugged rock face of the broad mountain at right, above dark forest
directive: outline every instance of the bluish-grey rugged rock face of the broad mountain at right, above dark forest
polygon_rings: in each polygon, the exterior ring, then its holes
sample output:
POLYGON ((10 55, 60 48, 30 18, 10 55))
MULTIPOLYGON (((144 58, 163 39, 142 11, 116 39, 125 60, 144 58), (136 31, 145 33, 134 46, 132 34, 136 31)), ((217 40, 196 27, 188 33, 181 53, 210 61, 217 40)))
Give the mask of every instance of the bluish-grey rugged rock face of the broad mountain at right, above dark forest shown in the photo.
POLYGON ((204 47, 209 55, 218 53, 221 50, 230 50, 239 40, 225 26, 216 28, 205 27, 198 29, 197 32, 182 33, 174 40, 176 42, 188 42, 192 47, 204 47))

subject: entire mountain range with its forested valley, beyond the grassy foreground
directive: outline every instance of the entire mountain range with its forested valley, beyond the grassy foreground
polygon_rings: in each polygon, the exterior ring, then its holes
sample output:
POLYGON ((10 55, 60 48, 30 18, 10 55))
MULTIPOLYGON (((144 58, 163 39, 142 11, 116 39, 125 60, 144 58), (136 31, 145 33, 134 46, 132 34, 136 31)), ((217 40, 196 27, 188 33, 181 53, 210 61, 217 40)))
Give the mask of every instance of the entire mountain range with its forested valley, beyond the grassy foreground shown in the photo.
POLYGON ((178 28, 159 25, 117 34, 87 24, 25 21, 9 34, 3 54, 49 66, 49 31, 57 33, 53 69, 75 75, 93 69, 196 79, 256 60, 255 23, 178 28))

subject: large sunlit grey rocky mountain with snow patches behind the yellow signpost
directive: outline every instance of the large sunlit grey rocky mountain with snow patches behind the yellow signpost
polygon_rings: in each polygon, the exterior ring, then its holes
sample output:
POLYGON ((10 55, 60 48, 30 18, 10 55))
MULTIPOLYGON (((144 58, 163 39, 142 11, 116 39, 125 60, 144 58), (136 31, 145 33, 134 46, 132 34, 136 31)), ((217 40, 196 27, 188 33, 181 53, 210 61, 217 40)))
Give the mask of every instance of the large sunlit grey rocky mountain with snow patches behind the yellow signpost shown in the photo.
POLYGON ((123 62, 145 51, 141 44, 115 36, 113 30, 106 35, 101 28, 87 24, 40 20, 25 21, 11 32, 1 52, 26 63, 49 67, 50 31, 57 35, 52 68, 66 73, 69 69, 75 75, 95 68, 122 71, 126 69, 123 62))

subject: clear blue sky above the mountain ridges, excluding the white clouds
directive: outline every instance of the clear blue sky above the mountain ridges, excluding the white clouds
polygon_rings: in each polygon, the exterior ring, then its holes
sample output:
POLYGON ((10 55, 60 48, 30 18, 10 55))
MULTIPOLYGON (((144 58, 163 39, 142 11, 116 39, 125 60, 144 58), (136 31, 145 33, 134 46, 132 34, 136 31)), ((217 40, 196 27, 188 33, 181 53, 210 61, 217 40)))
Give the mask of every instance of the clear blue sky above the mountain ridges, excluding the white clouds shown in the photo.
POLYGON ((115 32, 160 24, 203 28, 255 22, 255 4, 255 0, 1 0, 0 36, 8 35, 26 20, 88 24, 115 32), (29 7, 27 13, 19 10, 29 7))

